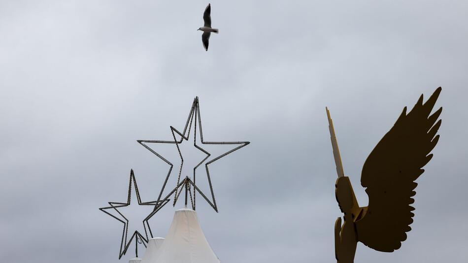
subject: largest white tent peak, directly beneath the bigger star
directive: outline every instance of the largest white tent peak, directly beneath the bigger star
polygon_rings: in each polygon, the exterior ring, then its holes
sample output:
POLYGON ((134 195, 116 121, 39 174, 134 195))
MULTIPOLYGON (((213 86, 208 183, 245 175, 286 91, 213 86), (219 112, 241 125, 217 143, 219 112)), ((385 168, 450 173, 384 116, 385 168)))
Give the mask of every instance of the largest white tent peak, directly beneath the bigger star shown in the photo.
POLYGON ((203 231, 197 212, 192 209, 175 211, 166 239, 155 261, 145 263, 220 263, 203 231))

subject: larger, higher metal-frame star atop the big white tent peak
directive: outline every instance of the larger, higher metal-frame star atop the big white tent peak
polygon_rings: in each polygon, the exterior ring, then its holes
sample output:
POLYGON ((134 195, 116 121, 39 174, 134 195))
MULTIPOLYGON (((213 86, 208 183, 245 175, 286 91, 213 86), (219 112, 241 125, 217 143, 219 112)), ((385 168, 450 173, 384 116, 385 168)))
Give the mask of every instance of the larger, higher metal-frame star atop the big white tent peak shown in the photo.
MULTIPOLYGON (((196 206, 195 206, 195 193, 196 191, 198 191, 202 197, 204 197, 204 199, 209 203, 209 205, 216 211, 218 212, 218 206, 216 205, 216 199, 214 197, 214 192, 213 192, 213 187, 212 187, 212 184, 211 184, 211 178, 210 178, 210 173, 209 173, 209 169, 208 169, 208 165, 209 164, 212 164, 216 161, 218 161, 219 159, 227 156, 228 154, 246 146, 247 144, 249 144, 250 142, 248 141, 223 141, 223 142, 216 142, 216 141, 203 141, 203 132, 202 132, 202 129, 201 129, 201 117, 200 117, 200 105, 199 105, 199 99, 198 97, 196 97, 192 103, 192 108, 190 109, 190 113, 189 113, 189 116, 187 118, 187 122, 185 124, 185 127, 184 127, 184 131, 183 132, 179 132, 177 129, 175 129, 174 127, 170 127, 170 130, 171 130, 171 133, 172 133, 172 137, 174 138, 173 140, 170 140, 170 141, 167 141, 167 140, 137 140, 137 142, 141 145, 143 145, 146 149, 148 149, 150 152, 152 152, 154 155, 156 155, 157 157, 159 157, 161 160, 163 160, 164 162, 166 162, 167 164, 169 164, 169 170, 167 172, 167 176, 166 176, 166 180, 164 181, 164 184, 163 184, 163 187, 161 189, 161 192, 159 194, 159 197, 158 197, 158 200, 157 200, 157 206, 155 207, 155 210, 156 209, 159 209, 159 205, 163 202, 167 202, 168 200, 168 197, 170 197, 172 194, 175 195, 174 197, 174 202, 173 202, 173 205, 175 205, 175 202, 177 201, 178 199, 178 196, 180 195, 180 193, 182 192, 182 188, 186 188, 186 195, 187 195, 187 189, 190 188, 190 185, 193 186, 193 200, 192 200, 192 208, 195 210, 196 206), (203 160, 201 160, 200 163, 198 163, 197 165, 194 166, 193 168, 193 181, 186 177, 184 180, 182 180, 182 182, 180 181, 180 174, 182 172, 182 166, 183 166, 183 163, 184 163, 184 159, 182 157, 182 154, 180 152, 180 148, 179 148, 179 144, 182 143, 182 141, 186 140, 188 141, 189 140, 189 135, 190 135, 190 130, 192 128, 192 123, 194 124, 194 146, 199 149, 200 151, 202 151, 203 153, 206 154, 206 157, 203 158, 203 160), (196 182, 196 170, 197 168, 203 164, 210 156, 211 154, 208 153, 206 150, 204 150, 203 148, 201 148, 200 145, 197 145, 197 123, 198 123, 198 126, 199 126, 199 132, 200 132, 200 139, 201 139, 201 143, 202 144, 223 144, 223 145, 226 145, 226 144, 234 144, 234 145, 238 145, 236 146, 234 149, 230 149, 229 151, 211 159, 210 161, 206 162, 205 163, 205 169, 206 169, 206 176, 208 178, 208 184, 209 184, 209 188, 210 188, 210 192, 211 192, 211 200, 209 200, 202 192, 201 190, 196 186, 195 182, 196 182), (175 133, 177 133, 181 138, 180 140, 177 140, 176 137, 175 137, 175 133), (167 184, 167 180, 169 179, 169 176, 171 174, 171 171, 172 171, 172 167, 173 167, 173 164, 170 163, 169 161, 167 161, 166 158, 164 158, 162 155, 160 155, 159 153, 157 153, 155 150, 153 150, 152 148, 150 148, 146 143, 174 143, 177 147, 177 151, 179 153, 179 156, 180 156, 180 159, 181 159, 181 164, 180 164, 180 168, 179 168, 179 173, 178 173, 178 178, 177 178, 177 184, 174 188, 174 190, 172 190, 172 192, 169 193, 169 195, 167 195, 166 197, 164 198, 161 198, 162 195, 163 195, 163 192, 166 188, 166 184, 167 184), (177 191, 179 188, 180 191, 177 191)), ((191 194, 191 192, 190 192, 191 194)), ((192 197, 192 196, 191 196, 192 197)), ((186 200, 187 200, 187 197, 186 197, 186 200)), ((154 213, 153 213, 154 214, 154 213)))

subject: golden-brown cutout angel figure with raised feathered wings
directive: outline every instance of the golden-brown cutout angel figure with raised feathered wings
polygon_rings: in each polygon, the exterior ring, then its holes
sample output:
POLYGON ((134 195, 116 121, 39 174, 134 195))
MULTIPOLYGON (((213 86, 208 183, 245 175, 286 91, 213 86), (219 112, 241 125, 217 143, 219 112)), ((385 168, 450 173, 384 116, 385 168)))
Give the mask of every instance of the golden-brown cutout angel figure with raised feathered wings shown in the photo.
POLYGON ((349 177, 344 176, 333 122, 327 108, 330 135, 338 179, 335 196, 341 218, 335 222, 335 257, 338 263, 354 262, 357 242, 382 252, 393 252, 406 240, 413 223, 414 181, 424 172, 422 167, 433 157, 430 152, 437 144, 442 108, 431 114, 440 91, 439 87, 426 103, 423 95, 406 114, 406 107, 395 125, 377 143, 364 163, 361 185, 366 188, 369 204, 360 207, 349 177), (436 122, 437 121, 437 122, 436 122))

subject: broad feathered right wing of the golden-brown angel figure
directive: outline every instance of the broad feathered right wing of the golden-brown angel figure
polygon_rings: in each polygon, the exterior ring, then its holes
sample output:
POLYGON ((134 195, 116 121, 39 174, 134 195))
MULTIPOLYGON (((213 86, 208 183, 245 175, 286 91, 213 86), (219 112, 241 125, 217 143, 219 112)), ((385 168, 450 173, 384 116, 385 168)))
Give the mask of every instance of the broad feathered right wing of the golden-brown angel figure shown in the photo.
POLYGON ((355 222, 358 240, 370 248, 384 252, 399 249, 411 230, 414 208, 410 204, 417 186, 414 181, 433 157, 429 153, 439 139, 435 133, 441 120, 435 122, 442 108, 430 114, 441 90, 437 88, 424 104, 421 95, 408 114, 404 107, 364 163, 361 184, 367 188, 369 205, 355 222))

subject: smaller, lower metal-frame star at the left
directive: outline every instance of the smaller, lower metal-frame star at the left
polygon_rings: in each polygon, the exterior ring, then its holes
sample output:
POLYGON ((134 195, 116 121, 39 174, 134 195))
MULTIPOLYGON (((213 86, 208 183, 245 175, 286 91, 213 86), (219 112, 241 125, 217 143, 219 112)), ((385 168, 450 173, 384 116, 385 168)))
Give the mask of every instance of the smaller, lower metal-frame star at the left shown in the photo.
MULTIPOLYGON (((126 203, 121 203, 121 202, 108 202, 110 206, 107 206, 107 207, 102 207, 102 208, 99 208, 99 210, 101 210, 102 212, 108 214, 109 216, 117 219, 118 221, 122 222, 124 224, 124 229, 122 231, 122 241, 120 242, 120 253, 119 253, 119 260, 120 258, 122 258, 123 255, 125 255, 127 253, 127 250, 130 246, 130 244, 132 243, 132 240, 135 238, 136 239, 136 242, 139 243, 138 239, 141 240, 141 243, 143 243, 143 245, 146 247, 146 244, 148 243, 148 232, 149 232, 149 235, 151 237, 153 237, 153 234, 151 232, 151 228, 149 226, 149 223, 148 223, 148 220, 159 210, 161 209, 169 200, 165 200, 165 201, 151 201, 151 202, 142 202, 141 201, 141 198, 140 198, 140 194, 138 192, 138 186, 136 185, 136 179, 135 179, 135 175, 134 175, 134 171, 133 169, 130 171, 130 181, 129 181, 129 192, 128 192, 128 197, 127 197, 127 202, 126 203), (145 230, 145 236, 143 236, 138 230, 135 230, 133 233, 132 233, 132 236, 130 237, 130 239, 127 241, 127 237, 128 237, 128 228, 129 228, 129 220, 117 209, 117 208, 121 208, 121 207, 125 207, 125 206, 129 206, 130 203, 131 203, 131 193, 132 193, 132 181, 133 181, 133 186, 135 188, 135 193, 136 193, 136 199, 138 201, 138 204, 139 205, 153 205, 154 206, 154 211, 151 213, 150 216, 147 216, 144 220, 143 220, 143 227, 144 227, 144 230, 145 230), (159 204, 159 205, 158 205, 159 204), (117 212, 117 214, 119 215, 116 216, 116 215, 113 215, 111 213, 109 213, 107 210, 108 209, 113 209, 117 212)), ((137 247, 137 244, 135 244, 135 247, 136 247, 136 256, 138 256, 138 247, 137 247)))

